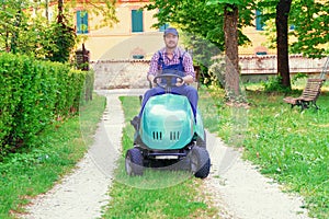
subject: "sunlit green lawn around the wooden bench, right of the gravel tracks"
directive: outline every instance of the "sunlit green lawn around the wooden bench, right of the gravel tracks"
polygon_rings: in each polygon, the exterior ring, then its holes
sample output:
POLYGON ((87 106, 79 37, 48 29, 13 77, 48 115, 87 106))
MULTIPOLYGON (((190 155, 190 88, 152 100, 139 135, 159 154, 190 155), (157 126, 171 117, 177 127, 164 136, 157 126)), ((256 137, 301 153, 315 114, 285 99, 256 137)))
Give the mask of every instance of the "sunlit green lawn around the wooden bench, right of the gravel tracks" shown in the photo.
POLYGON ((222 91, 201 92, 205 126, 226 143, 242 147, 243 158, 283 184, 286 192, 304 196, 311 217, 329 218, 328 84, 317 102, 320 110, 303 112, 284 103, 282 93, 259 91, 259 84, 256 88, 246 93, 249 108, 227 106, 222 91))

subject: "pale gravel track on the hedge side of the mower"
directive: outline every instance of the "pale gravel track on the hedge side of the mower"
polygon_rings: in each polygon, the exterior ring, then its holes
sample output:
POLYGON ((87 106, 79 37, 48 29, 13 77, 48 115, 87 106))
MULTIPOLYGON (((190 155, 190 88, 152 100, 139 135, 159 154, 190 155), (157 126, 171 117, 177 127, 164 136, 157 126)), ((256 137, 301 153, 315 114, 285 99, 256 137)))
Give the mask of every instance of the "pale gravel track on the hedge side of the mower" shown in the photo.
POLYGON ((104 115, 95 132, 95 140, 75 172, 52 191, 32 200, 27 219, 92 219, 99 218, 112 182, 115 161, 121 153, 121 130, 124 115, 117 95, 107 95, 104 115))

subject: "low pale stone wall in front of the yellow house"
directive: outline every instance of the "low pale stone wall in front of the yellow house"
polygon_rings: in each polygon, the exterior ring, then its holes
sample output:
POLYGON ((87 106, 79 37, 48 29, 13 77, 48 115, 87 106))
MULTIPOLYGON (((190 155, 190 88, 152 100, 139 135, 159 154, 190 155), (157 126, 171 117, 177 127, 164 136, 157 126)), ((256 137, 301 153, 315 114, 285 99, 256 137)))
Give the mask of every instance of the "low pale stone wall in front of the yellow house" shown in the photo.
MULTIPOLYGON (((291 56, 291 74, 297 72, 319 74, 325 62, 326 58, 307 59, 302 56, 291 56)), ((276 56, 243 56, 240 57, 239 64, 243 82, 264 81, 276 74, 276 56)), ((149 88, 146 80, 149 60, 103 60, 92 62, 91 68, 95 72, 94 89, 97 90, 149 88)))

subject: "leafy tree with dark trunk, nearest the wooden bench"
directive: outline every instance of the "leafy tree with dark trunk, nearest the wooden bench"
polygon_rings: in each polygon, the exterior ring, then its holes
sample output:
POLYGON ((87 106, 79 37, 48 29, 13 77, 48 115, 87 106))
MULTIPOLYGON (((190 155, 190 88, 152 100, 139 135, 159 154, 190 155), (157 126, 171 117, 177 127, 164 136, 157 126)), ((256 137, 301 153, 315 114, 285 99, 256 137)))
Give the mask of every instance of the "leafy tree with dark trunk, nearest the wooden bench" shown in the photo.
POLYGON ((314 0, 265 0, 259 1, 264 21, 275 19, 277 73, 281 85, 291 89, 288 54, 297 53, 306 57, 328 56, 329 24, 328 1, 314 0), (293 31, 288 28, 293 26, 293 31), (288 44, 288 37, 297 41, 288 44), (327 44, 327 46, 326 46, 327 44))

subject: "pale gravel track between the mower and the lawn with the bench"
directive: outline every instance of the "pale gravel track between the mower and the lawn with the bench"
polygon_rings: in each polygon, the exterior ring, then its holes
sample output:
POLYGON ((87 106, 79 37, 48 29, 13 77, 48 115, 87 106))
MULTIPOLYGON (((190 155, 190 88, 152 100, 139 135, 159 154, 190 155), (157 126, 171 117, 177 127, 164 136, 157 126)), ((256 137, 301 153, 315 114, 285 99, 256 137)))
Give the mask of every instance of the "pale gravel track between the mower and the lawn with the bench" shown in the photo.
POLYGON ((223 218, 306 219, 303 199, 283 193, 273 180, 261 175, 241 153, 207 132, 212 172, 205 180, 207 194, 219 204, 223 218))

